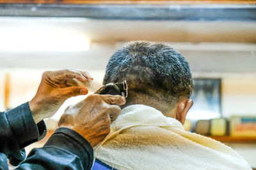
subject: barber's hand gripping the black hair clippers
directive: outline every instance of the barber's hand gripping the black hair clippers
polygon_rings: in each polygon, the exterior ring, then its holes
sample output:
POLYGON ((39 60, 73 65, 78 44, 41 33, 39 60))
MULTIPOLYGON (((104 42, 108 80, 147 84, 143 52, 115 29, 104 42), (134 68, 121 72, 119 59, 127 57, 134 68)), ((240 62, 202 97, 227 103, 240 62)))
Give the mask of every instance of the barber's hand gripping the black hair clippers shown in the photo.
POLYGON ((60 118, 59 126, 78 132, 94 147, 109 134, 111 121, 118 117, 119 106, 123 104, 125 98, 122 96, 90 95, 69 106, 60 118))

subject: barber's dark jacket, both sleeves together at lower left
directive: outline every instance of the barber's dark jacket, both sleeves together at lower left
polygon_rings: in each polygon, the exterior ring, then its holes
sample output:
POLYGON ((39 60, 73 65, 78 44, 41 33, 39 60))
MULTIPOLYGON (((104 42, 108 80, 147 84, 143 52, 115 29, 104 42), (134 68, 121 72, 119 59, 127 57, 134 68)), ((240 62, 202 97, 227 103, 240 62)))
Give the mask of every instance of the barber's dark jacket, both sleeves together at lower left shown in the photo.
MULTIPOLYGON (((46 134, 44 121, 35 124, 29 104, 0 113, 0 169, 8 169, 7 158, 17 166, 26 157, 24 147, 46 134)), ((71 129, 57 129, 43 148, 33 149, 17 169, 91 169, 93 148, 71 129)))

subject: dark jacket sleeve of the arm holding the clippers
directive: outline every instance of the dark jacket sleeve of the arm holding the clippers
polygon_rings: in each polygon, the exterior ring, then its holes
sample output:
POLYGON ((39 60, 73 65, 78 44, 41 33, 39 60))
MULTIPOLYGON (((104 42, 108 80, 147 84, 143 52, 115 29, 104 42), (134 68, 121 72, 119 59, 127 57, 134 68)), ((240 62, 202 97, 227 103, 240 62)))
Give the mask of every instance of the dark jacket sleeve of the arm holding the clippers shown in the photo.
POLYGON ((91 169, 93 148, 71 129, 57 129, 43 148, 33 149, 17 169, 91 169))

